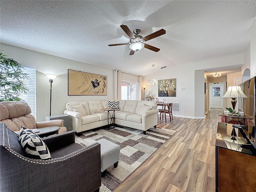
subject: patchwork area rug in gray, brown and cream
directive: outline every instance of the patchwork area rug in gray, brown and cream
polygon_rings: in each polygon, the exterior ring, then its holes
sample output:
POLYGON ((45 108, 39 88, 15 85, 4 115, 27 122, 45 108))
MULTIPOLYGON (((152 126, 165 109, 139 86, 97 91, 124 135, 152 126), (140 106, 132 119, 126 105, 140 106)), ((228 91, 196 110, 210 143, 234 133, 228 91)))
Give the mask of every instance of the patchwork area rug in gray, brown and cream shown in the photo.
POLYGON ((83 132, 76 136, 76 143, 88 146, 97 140, 106 139, 120 145, 120 161, 118 167, 112 165, 102 177, 100 192, 111 192, 119 186, 134 170, 149 158, 176 131, 164 128, 150 128, 146 135, 133 128, 98 129, 83 132))

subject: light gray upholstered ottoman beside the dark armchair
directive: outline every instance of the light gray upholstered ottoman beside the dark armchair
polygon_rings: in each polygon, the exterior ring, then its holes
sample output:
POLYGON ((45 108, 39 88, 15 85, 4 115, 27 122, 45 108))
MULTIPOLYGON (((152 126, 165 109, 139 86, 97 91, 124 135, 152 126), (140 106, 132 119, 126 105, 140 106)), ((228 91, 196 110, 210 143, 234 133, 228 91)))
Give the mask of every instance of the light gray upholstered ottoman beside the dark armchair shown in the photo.
POLYGON ((106 139, 101 139, 97 142, 100 143, 101 175, 103 177, 106 174, 106 169, 111 165, 114 165, 114 168, 118 166, 120 146, 106 139))

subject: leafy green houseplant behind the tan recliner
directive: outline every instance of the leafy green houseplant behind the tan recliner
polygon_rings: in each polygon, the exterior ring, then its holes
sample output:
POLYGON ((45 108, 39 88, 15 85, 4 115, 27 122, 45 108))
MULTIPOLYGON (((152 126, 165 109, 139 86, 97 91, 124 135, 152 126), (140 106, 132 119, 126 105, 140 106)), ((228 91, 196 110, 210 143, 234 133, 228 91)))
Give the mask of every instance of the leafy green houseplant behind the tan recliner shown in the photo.
POLYGON ((0 101, 20 101, 20 94, 27 94, 24 80, 29 76, 22 69, 21 64, 7 58, 0 50, 0 101))

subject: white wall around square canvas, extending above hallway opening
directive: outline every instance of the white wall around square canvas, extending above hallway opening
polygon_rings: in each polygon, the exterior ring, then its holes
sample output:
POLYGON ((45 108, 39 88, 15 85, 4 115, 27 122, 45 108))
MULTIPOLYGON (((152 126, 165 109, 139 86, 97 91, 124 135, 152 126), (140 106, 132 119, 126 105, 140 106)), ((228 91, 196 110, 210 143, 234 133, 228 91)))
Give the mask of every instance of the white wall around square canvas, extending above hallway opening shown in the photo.
MULTIPOLYGON (((195 72, 195 70, 204 71, 204 69, 208 68, 241 65, 243 63, 244 54, 237 54, 234 56, 177 65, 172 68, 163 68, 155 73, 155 78, 157 80, 176 78, 176 97, 166 98, 167 102, 180 102, 180 113, 173 112, 175 116, 204 118, 204 72, 195 72), (202 80, 202 82, 199 82, 199 80, 202 80), (181 88, 184 88, 184 90, 181 90, 181 88), (200 94, 200 96, 198 96, 197 93, 200 94)), ((147 81, 151 78, 152 74, 144 76, 143 85, 147 85, 147 81)), ((148 93, 148 90, 151 90, 153 97, 158 98, 158 86, 147 86, 146 93, 148 93)), ((162 97, 159 99, 163 101, 162 97)))

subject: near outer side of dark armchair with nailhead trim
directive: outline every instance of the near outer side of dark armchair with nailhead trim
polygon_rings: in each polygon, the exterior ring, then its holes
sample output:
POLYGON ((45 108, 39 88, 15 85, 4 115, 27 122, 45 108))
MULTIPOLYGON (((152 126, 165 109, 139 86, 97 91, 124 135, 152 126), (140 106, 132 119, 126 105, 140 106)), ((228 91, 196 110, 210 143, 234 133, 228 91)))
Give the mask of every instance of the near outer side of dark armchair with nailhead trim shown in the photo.
POLYGON ((101 186, 98 143, 52 160, 30 159, 8 149, 1 152, 1 191, 94 192, 101 186))

